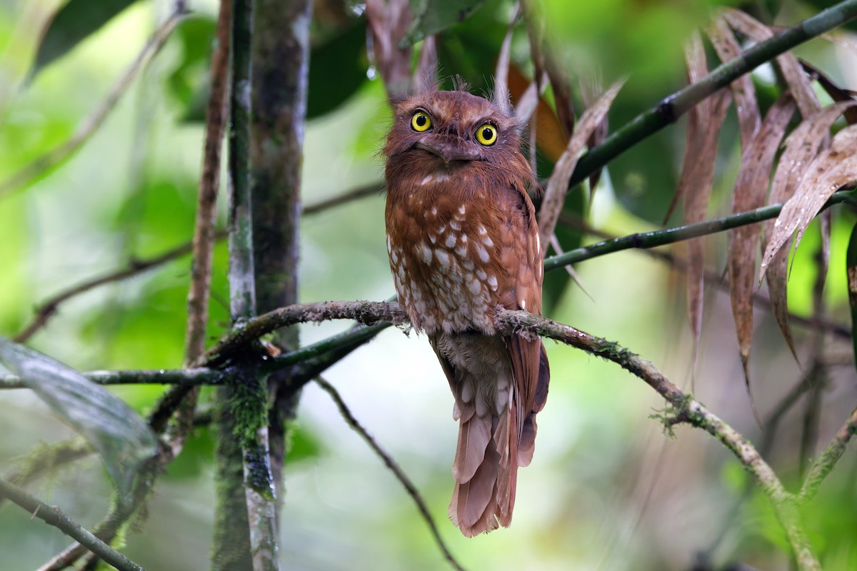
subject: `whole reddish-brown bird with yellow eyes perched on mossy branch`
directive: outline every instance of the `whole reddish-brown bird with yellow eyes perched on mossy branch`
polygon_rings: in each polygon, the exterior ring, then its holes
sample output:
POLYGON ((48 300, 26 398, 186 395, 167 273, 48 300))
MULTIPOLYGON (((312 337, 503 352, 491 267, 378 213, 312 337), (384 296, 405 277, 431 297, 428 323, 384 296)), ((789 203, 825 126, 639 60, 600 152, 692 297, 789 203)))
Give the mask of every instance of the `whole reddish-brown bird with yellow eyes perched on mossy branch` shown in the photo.
POLYGON ((542 312, 542 248, 505 92, 436 87, 394 102, 387 252, 399 303, 428 335, 459 422, 449 517, 467 537, 509 526, 550 371, 539 339, 499 335, 494 309, 542 312))

